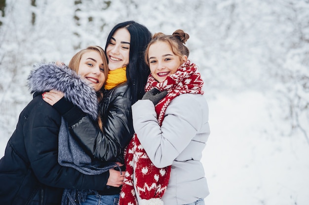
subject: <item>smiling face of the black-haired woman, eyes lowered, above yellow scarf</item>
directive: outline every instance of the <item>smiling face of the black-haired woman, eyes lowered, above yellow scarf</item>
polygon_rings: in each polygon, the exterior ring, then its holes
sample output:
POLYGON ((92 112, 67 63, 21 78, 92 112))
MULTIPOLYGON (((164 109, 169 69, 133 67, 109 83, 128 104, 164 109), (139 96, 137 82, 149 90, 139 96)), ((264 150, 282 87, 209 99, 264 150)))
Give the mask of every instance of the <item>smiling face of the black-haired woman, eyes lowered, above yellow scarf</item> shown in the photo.
POLYGON ((106 47, 110 70, 116 70, 129 64, 130 39, 131 35, 125 28, 118 29, 113 34, 106 47))

